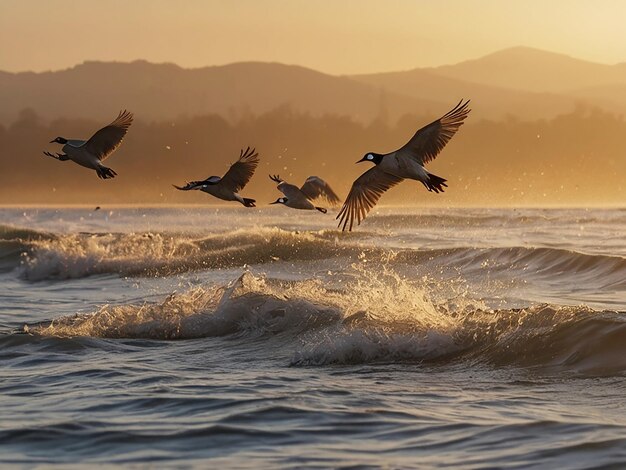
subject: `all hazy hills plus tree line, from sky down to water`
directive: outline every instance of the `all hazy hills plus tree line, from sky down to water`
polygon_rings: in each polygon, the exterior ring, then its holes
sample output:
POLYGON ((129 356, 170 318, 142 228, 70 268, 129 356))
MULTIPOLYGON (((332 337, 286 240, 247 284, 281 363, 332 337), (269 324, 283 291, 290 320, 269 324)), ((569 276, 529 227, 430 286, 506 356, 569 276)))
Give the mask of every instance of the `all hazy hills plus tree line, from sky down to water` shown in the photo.
POLYGON ((171 183, 221 175, 248 145, 262 163, 247 197, 276 198, 268 173, 296 183, 318 174, 344 196, 366 168, 354 165, 366 151, 398 148, 463 97, 472 100, 467 125, 429 166, 449 190, 435 196, 399 185, 383 202, 623 205, 626 82, 609 80, 624 67, 516 48, 458 66, 355 77, 271 63, 183 69, 143 61, 0 73, 0 204, 213 203, 171 183), (54 137, 88 137, 119 108, 136 121, 110 160, 118 178, 101 181, 43 156, 54 137))

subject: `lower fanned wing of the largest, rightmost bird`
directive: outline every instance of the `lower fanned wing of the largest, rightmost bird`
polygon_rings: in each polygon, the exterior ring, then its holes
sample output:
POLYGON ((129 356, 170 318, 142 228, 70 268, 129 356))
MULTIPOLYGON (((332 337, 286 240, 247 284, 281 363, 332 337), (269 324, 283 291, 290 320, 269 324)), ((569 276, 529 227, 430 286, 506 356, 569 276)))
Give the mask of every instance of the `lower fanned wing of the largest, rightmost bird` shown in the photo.
POLYGON ((351 231, 354 219, 356 219, 357 225, 360 225, 367 213, 376 205, 380 196, 403 179, 385 173, 378 166, 370 168, 359 176, 352 183, 350 194, 337 214, 336 218, 339 219, 338 226, 341 227, 341 230, 345 231, 348 227, 348 230, 351 231))

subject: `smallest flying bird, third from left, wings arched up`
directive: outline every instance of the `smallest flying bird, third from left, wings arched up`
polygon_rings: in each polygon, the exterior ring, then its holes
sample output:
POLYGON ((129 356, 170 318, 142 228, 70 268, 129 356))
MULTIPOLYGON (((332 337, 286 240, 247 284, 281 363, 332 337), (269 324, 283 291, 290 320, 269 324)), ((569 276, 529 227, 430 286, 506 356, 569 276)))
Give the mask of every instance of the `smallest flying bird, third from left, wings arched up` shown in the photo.
POLYGON ((294 184, 287 183, 278 175, 270 175, 270 179, 278 183, 278 190, 285 195, 285 197, 279 197, 270 204, 284 204, 292 209, 317 209, 323 214, 326 214, 326 212, 328 212, 327 209, 317 207, 313 205, 311 201, 321 197, 326 199, 331 205, 336 205, 341 202, 328 183, 318 176, 309 176, 301 188, 298 188, 294 184))

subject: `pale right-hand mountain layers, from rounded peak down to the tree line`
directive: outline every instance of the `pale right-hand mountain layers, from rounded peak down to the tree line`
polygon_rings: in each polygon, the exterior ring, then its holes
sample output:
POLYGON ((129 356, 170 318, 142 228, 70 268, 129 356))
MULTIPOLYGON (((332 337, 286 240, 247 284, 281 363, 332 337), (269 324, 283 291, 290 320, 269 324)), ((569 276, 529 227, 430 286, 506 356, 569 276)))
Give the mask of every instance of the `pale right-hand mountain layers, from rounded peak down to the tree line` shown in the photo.
POLYGON ((528 47, 456 65, 350 78, 416 99, 469 97, 474 115, 491 119, 549 119, 580 106, 626 112, 626 63, 596 64, 528 47))

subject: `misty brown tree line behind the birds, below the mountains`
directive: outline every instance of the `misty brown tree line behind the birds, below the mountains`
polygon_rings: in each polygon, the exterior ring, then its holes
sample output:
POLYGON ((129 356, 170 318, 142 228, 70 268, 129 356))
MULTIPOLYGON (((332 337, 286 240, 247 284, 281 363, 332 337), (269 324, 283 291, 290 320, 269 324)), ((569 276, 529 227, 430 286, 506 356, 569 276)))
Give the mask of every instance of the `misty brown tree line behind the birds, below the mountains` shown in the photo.
MULTIPOLYGON (((275 199, 268 173, 298 184, 318 175, 345 195, 366 168, 354 165, 364 153, 394 150, 437 117, 412 114, 389 123, 381 115, 363 124, 347 116, 294 112, 288 105, 236 120, 206 115, 157 122, 136 116, 124 143, 107 161, 119 176, 100 181, 93 172, 42 151, 54 150, 48 142, 57 136, 88 138, 106 123, 70 117, 46 122, 36 110, 24 109, 11 125, 0 125, 0 204, 213 204, 201 194, 179 193, 171 183, 221 175, 239 149, 249 145, 262 159, 243 191, 249 197, 275 199)), ((491 121, 470 114, 429 166, 449 180, 445 194, 425 193, 416 183, 394 188, 381 202, 625 204, 625 135, 622 116, 594 108, 538 121, 514 116, 491 121)))

